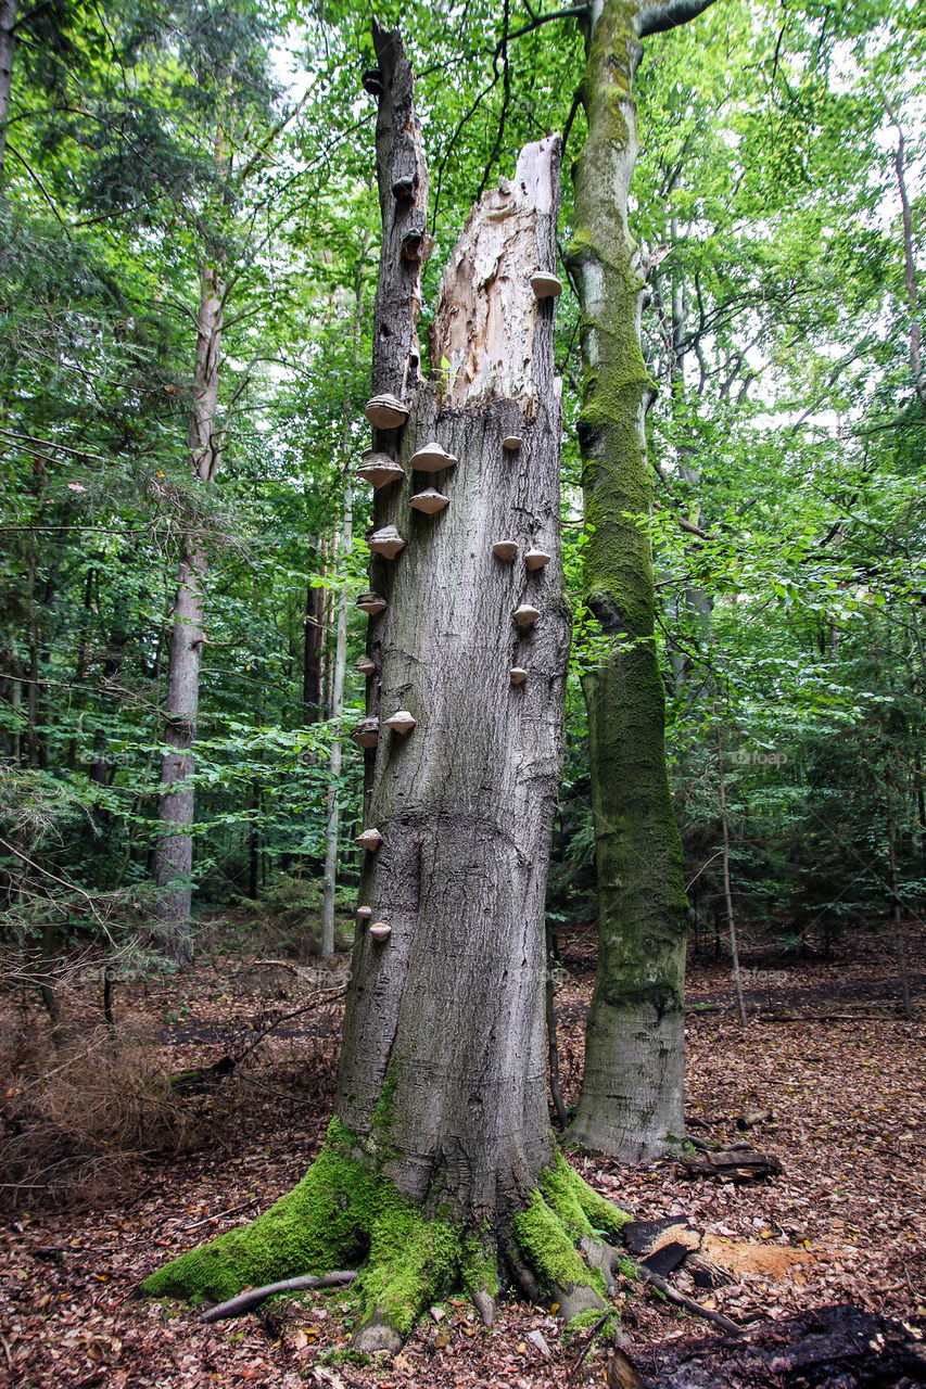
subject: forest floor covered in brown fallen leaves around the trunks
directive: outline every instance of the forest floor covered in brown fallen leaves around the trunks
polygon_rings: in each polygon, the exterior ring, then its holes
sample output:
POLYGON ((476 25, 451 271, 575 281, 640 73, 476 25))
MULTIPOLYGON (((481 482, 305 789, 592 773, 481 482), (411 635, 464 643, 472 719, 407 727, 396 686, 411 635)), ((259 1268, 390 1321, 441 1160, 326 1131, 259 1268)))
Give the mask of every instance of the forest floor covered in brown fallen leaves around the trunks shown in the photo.
MULTIPOLYGON (((566 1347, 555 1317, 513 1297, 491 1331, 452 1299, 400 1356, 360 1364, 349 1356, 353 1306, 343 1289, 211 1326, 189 1308, 132 1296, 159 1264, 286 1192, 317 1151, 334 1099, 346 957, 332 976, 228 954, 221 936, 209 949, 184 976, 117 983, 118 1046, 100 1026, 99 983, 71 989, 72 1040, 60 1053, 31 1003, 0 1001, 0 1195, 8 1203, 0 1383, 562 1389, 581 1342, 566 1347), (184 1097, 164 1083, 167 1072, 229 1054, 239 1064, 211 1089, 184 1097)), ((854 938, 830 960, 747 951, 745 1031, 729 963, 691 961, 690 1132, 727 1146, 742 1139, 737 1115, 770 1108, 773 1117, 747 1136, 780 1158, 783 1175, 731 1183, 691 1179, 673 1163, 631 1170, 573 1156, 598 1190, 638 1220, 677 1215, 709 1236, 712 1257, 734 1272, 713 1292, 691 1289, 681 1275, 680 1286, 704 1306, 747 1324, 852 1303, 922 1336, 922 922, 908 931, 908 951, 912 1022, 900 1013, 887 931, 854 938)), ((581 1075, 592 958, 588 932, 563 936, 556 1011, 567 1104, 581 1075)), ((722 1335, 638 1283, 622 1282, 617 1306, 624 1351, 647 1385, 663 1382, 660 1365, 673 1347, 722 1335)), ((602 1375, 633 1382, 603 1357, 594 1351, 569 1383, 602 1383, 602 1375)))

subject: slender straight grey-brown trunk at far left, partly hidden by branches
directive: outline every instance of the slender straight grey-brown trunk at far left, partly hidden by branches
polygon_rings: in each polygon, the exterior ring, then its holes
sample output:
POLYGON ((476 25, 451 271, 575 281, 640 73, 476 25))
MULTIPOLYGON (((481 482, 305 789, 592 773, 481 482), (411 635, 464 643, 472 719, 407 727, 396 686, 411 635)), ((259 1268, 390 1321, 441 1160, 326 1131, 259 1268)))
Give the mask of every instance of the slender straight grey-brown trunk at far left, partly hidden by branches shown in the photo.
MULTIPOLYGON (((196 378, 189 425, 190 468, 200 482, 211 482, 220 464, 217 433, 218 363, 222 333, 222 288, 214 267, 203 271, 196 378)), ((164 740, 170 751, 161 763, 159 803, 160 838, 154 851, 154 883, 160 892, 163 949, 179 963, 192 958, 189 913, 193 868, 193 743, 199 710, 199 672, 203 664, 203 603, 209 563, 206 551, 185 536, 177 576, 171 661, 164 703, 164 740)))

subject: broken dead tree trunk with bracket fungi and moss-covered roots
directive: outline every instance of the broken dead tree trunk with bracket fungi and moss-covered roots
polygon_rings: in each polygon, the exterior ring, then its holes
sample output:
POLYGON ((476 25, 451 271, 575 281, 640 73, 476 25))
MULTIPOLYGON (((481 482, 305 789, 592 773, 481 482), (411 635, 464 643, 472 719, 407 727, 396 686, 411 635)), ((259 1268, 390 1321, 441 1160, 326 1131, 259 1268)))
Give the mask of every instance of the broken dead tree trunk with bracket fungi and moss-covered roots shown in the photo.
POLYGON ((374 532, 395 526, 405 546, 371 564, 385 601, 367 647, 377 742, 336 1117, 296 1190, 146 1285, 228 1297, 368 1256, 355 1350, 395 1349, 457 1282, 491 1321, 502 1254, 564 1315, 602 1307, 603 1275, 574 1239, 606 1260, 594 1229, 622 1222, 556 1161, 546 1110, 544 896, 569 613, 553 306, 531 279, 553 264, 560 142, 527 146, 470 215, 441 286, 431 351, 450 365, 435 392, 419 378, 427 174, 412 71, 398 33, 374 39, 374 383, 402 401, 399 426, 374 433, 402 467, 377 490, 374 532), (428 489, 446 506, 412 504, 428 489))

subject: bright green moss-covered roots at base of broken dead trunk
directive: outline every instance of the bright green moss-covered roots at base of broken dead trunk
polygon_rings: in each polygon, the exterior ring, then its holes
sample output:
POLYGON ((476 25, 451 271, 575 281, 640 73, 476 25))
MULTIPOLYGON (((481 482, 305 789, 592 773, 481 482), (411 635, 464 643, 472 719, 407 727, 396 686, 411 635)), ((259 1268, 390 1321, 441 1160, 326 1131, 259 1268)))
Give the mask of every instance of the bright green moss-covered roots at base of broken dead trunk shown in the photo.
MULTIPOLYGON (((332 1271, 362 1265, 350 1293, 362 1308, 353 1349, 392 1354, 421 1313, 456 1286, 491 1326, 499 1256, 531 1301, 555 1304, 566 1321, 588 1325, 590 1315, 606 1310, 617 1256, 601 1236, 616 1236, 630 1217, 592 1192, 562 1157, 539 1174, 527 1207, 501 1232, 428 1218, 368 1164, 370 1146, 332 1120, 321 1153, 288 1196, 250 1225, 157 1270, 142 1292, 188 1301, 234 1299, 245 1311, 254 1296, 238 1299, 245 1288, 257 1288, 263 1300, 263 1285, 298 1279, 300 1286, 325 1286, 332 1271)), ((207 1317, 217 1320, 217 1310, 207 1317)))

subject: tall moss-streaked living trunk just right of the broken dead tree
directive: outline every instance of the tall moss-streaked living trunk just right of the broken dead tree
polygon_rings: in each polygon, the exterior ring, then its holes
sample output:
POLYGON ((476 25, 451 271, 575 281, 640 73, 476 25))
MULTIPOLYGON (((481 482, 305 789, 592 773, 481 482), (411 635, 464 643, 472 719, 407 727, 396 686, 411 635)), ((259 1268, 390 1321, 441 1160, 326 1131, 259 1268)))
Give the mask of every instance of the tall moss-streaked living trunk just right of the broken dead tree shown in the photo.
POLYGON ((627 225, 638 147, 633 79, 640 38, 704 8, 705 0, 592 7, 583 85, 588 136, 573 169, 569 265, 583 315, 585 599, 610 649, 583 682, 599 932, 583 1090, 569 1136, 624 1161, 658 1157, 684 1135, 687 931, 665 764, 652 554, 637 524, 652 500, 644 435, 652 386, 640 346, 644 271, 627 225))

